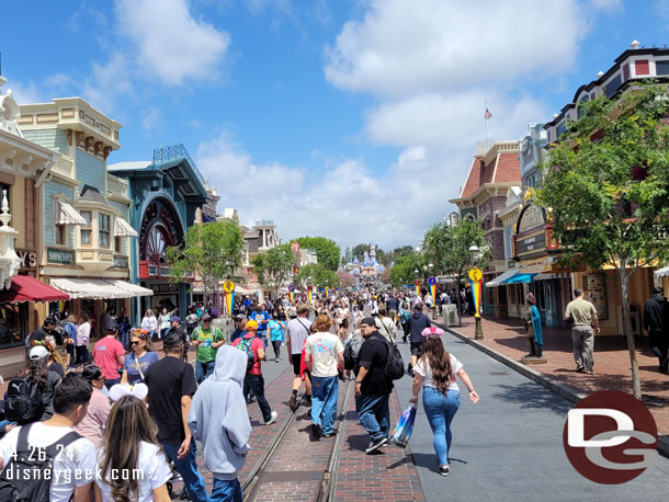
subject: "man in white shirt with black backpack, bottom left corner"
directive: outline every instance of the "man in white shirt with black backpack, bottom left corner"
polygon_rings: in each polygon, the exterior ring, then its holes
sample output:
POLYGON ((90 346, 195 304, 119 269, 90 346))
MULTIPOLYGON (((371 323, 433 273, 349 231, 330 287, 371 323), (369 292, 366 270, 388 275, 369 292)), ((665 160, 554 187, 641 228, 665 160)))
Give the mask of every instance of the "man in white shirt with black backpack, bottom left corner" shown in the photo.
POLYGON ((72 429, 86 415, 91 393, 80 375, 67 375, 54 393, 54 417, 14 427, 0 441, 0 500, 91 500, 95 446, 72 429))

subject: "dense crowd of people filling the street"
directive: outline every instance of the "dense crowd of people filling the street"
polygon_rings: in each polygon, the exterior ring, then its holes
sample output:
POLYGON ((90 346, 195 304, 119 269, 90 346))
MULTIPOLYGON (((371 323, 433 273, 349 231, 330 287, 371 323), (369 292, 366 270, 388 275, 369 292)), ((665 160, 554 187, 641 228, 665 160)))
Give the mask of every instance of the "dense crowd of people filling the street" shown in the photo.
POLYGON ((454 377, 466 385, 473 402, 478 396, 462 363, 430 329, 424 298, 364 292, 315 295, 311 304, 296 299, 256 305, 241 299, 229 336, 213 326, 217 312, 211 308, 189 309, 183 322, 175 311, 162 309, 159 316, 148 310, 124 343, 116 322, 122 318, 107 311, 105 335, 90 356, 78 349, 88 349, 84 315, 68 317, 61 330, 47 318, 30 336, 30 363, 4 397, 0 500, 27 493, 29 500, 42 494, 52 501, 167 501, 168 483, 180 476, 193 501, 241 501, 238 472, 252 431, 247 404, 258 403, 264 425, 277 421, 264 395, 268 346, 275 363, 285 346, 293 368, 290 408, 296 411, 301 402, 310 408, 313 441, 337 434, 339 384, 355 378, 355 409, 370 436, 365 453, 372 454, 388 442, 388 397, 398 377, 388 367, 399 357, 400 330, 410 343, 412 400, 423 388, 440 471, 447 474, 450 425, 460 406, 454 377), (162 357, 152 350, 158 341, 162 357), (76 347, 69 364, 57 345, 76 347), (189 345, 195 350, 194 368, 188 363, 189 345), (64 366, 70 366, 67 375, 64 366), (195 440, 214 477, 211 493, 197 467, 195 440), (48 482, 16 481, 22 470, 48 467, 27 458, 38 447, 53 459, 55 475, 48 482))

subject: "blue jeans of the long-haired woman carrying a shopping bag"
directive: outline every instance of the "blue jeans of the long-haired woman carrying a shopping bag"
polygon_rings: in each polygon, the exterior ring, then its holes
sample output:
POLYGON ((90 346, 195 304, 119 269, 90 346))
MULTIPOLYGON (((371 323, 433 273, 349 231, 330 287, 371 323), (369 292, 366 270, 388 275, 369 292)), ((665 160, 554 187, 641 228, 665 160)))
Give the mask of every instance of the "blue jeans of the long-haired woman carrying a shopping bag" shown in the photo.
POLYGON ((444 396, 434 387, 423 387, 422 404, 432 429, 432 444, 439 457, 439 465, 449 465, 451 448, 451 422, 460 408, 460 390, 449 390, 444 396))

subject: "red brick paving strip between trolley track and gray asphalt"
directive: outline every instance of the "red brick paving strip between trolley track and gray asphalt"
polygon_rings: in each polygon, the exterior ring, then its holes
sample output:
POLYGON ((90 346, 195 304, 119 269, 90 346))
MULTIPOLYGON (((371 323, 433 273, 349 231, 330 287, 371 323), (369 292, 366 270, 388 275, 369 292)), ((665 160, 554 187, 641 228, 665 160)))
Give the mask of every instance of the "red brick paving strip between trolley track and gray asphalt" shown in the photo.
MULTIPOLYGON (((396 391, 390 395, 390 427, 401 415, 396 391)), ((413 465, 411 448, 386 446, 378 454, 365 455, 370 436, 358 421, 355 400, 347 407, 345 440, 337 475, 338 502, 426 500, 413 465)))

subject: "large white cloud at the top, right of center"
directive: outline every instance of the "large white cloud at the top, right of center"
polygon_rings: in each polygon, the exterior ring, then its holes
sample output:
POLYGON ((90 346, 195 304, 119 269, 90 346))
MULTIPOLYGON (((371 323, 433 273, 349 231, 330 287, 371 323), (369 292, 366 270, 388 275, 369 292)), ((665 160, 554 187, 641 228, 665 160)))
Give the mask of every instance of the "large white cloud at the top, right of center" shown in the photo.
POLYGON ((326 49, 325 75, 382 96, 499 84, 570 68, 586 27, 576 0, 372 0, 326 49))

